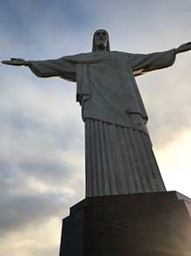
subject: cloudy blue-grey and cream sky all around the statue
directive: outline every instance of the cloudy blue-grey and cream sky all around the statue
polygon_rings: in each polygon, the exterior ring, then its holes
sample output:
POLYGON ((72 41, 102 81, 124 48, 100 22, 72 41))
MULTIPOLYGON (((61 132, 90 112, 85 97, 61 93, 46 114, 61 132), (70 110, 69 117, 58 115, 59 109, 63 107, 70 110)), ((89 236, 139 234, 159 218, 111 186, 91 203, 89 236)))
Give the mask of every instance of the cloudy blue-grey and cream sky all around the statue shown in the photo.
MULTIPOLYGON (((111 50, 166 51, 191 41, 190 0, 0 0, 0 59, 111 50)), ((191 197, 191 51, 137 77, 168 191, 191 197)), ((0 64, 0 254, 55 256, 62 219, 84 198, 84 127, 76 84, 0 64)))

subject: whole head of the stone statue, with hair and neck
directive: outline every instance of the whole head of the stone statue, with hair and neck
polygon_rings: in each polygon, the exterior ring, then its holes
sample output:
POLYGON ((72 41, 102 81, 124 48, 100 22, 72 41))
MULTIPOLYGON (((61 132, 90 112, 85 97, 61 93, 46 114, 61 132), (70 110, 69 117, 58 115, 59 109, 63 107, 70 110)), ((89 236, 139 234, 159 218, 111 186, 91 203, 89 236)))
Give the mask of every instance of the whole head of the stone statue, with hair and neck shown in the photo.
POLYGON ((96 30, 93 37, 92 51, 110 51, 109 33, 106 30, 96 30))

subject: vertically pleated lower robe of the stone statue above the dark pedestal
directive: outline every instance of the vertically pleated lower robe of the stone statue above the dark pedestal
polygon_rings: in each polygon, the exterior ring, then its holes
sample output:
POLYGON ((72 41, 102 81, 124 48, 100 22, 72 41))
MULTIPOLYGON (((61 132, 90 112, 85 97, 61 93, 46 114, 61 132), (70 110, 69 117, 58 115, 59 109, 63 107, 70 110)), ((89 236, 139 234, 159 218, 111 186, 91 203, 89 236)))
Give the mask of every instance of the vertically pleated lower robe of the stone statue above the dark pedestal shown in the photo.
POLYGON ((85 119, 86 196, 166 191, 148 134, 85 119))

